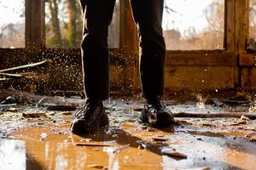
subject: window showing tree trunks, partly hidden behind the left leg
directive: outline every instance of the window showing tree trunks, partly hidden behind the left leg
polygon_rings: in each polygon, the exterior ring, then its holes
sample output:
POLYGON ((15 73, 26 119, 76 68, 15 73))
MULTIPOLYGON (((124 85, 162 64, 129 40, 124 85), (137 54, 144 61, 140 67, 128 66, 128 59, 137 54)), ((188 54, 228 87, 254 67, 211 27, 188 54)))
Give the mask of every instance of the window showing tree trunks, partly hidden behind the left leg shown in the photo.
MULTIPOLYGON (((83 31, 79 0, 49 0, 45 3, 45 27, 47 48, 79 48, 83 31)), ((119 48, 119 2, 109 27, 109 48, 119 48)))

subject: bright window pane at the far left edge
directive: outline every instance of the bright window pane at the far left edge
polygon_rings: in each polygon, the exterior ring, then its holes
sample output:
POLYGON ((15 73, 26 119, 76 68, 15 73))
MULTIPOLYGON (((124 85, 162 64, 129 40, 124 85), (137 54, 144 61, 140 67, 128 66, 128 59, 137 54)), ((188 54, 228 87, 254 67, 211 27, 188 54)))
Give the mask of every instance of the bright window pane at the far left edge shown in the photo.
POLYGON ((24 0, 0 0, 0 48, 25 48, 24 0))

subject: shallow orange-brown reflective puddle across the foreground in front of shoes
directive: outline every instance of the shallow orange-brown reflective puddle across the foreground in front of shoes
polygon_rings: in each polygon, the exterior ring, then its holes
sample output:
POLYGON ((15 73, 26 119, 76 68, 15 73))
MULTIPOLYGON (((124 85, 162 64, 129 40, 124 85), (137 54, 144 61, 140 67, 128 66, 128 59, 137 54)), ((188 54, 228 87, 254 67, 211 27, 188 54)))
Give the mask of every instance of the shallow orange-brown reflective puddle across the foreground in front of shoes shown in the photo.
MULTIPOLYGON (((256 166, 253 161, 256 144, 245 139, 216 139, 208 133, 170 133, 158 129, 137 131, 137 124, 131 122, 122 128, 111 126, 104 132, 83 136, 66 133, 67 129, 67 126, 55 127, 54 131, 52 127, 28 127, 10 133, 9 139, 0 140, 0 169, 90 169, 93 165, 108 169, 253 169, 256 166), (41 133, 47 133, 45 140, 40 139, 41 133), (152 142, 150 139, 157 135, 168 140, 152 142), (73 144, 81 139, 114 141, 115 146, 110 147, 115 148, 123 144, 130 147, 117 154, 108 152, 106 146, 73 144), (162 150, 175 150, 188 157, 177 160, 163 156, 162 150)), ((225 134, 229 135, 232 133, 225 134)))

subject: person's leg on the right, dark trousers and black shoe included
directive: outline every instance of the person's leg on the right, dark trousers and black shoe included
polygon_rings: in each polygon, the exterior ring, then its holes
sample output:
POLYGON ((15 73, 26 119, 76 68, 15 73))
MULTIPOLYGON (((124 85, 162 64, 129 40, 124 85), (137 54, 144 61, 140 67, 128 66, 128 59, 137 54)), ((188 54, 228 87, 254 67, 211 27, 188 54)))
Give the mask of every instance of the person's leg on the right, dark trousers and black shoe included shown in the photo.
POLYGON ((174 122, 172 112, 161 99, 166 64, 166 43, 161 26, 164 0, 131 0, 131 8, 139 31, 140 74, 143 97, 147 100, 141 120, 153 125, 170 125, 174 122))

